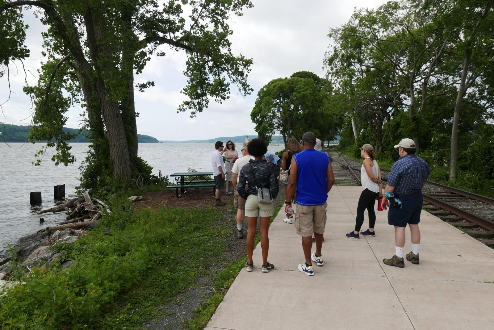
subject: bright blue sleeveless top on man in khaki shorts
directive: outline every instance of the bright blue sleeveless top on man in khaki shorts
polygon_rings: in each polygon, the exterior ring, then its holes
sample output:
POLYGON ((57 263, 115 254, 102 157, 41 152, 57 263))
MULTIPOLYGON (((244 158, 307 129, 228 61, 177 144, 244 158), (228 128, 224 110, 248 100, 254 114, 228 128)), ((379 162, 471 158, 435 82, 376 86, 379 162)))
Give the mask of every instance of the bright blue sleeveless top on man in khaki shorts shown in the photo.
POLYGON ((323 205, 328 200, 329 156, 315 149, 293 155, 297 164, 296 203, 304 206, 323 205))

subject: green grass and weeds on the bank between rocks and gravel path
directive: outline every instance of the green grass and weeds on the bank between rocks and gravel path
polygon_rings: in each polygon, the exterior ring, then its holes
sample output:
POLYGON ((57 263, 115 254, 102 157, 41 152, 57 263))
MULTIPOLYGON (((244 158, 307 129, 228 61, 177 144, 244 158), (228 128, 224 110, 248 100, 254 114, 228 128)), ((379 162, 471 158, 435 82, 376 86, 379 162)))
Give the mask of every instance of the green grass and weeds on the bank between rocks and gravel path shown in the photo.
POLYGON ((201 217, 196 209, 117 208, 102 218, 101 228, 111 226, 111 235, 100 228, 74 244, 54 247, 73 260, 68 269, 59 263, 50 269, 33 268, 25 282, 0 297, 1 328, 109 329, 132 322, 128 314, 122 318, 128 313, 125 309, 113 311, 113 317, 105 313, 132 286, 152 286, 146 282, 149 277, 160 287, 156 298, 162 302, 193 284, 194 274, 208 266, 209 257, 225 251, 224 241, 208 244, 224 235, 215 228, 217 217, 213 208, 202 210, 201 217), (193 270, 184 259, 194 260, 193 270), (182 265, 177 267, 179 260, 182 265))

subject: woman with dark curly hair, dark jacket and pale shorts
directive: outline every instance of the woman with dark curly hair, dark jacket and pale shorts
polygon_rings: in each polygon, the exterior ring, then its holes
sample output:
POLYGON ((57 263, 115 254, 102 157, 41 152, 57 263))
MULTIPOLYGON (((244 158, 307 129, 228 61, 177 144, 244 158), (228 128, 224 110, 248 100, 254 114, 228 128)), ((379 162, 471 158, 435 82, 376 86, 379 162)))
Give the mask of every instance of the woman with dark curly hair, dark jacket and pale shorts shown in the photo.
POLYGON ((278 178, 273 165, 262 159, 268 150, 267 144, 262 139, 253 139, 247 144, 247 150, 254 157, 240 171, 237 191, 246 200, 245 212, 247 216, 247 272, 254 267, 252 253, 254 251, 254 235, 257 228, 257 217, 261 219, 261 249, 262 249, 262 272, 267 273, 274 269, 274 265, 268 262, 269 250, 269 220, 273 216, 273 202, 263 204, 257 201, 257 188, 270 188, 273 199, 278 196, 278 178), (246 191, 246 182, 248 189, 246 191))

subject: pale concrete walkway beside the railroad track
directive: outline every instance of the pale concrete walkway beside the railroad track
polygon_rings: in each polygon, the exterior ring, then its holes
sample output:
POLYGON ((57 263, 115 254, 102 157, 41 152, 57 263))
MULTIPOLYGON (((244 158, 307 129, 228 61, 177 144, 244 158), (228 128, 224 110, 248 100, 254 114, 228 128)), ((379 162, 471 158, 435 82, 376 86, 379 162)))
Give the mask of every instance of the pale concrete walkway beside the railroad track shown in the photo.
MULTIPOLYGON (((301 240, 281 211, 269 231, 275 270, 261 272, 258 244, 254 271, 242 269, 206 329, 494 329, 494 284, 484 283, 494 281, 494 251, 422 211, 420 265, 384 265, 395 251, 387 211, 376 211, 375 237, 345 237, 360 192, 329 192, 325 263, 314 263, 314 276, 297 270, 301 240)), ((368 224, 366 214, 364 230, 368 224)))

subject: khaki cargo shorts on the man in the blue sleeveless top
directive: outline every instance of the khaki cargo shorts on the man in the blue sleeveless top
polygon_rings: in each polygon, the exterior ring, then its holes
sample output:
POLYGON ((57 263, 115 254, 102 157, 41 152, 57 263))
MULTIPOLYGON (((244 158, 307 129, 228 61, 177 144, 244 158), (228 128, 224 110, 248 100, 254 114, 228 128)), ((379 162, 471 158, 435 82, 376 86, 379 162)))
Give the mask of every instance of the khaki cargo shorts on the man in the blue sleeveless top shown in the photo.
POLYGON ((313 233, 324 234, 326 227, 326 207, 328 203, 318 206, 295 205, 295 221, 297 235, 312 236, 313 233))

